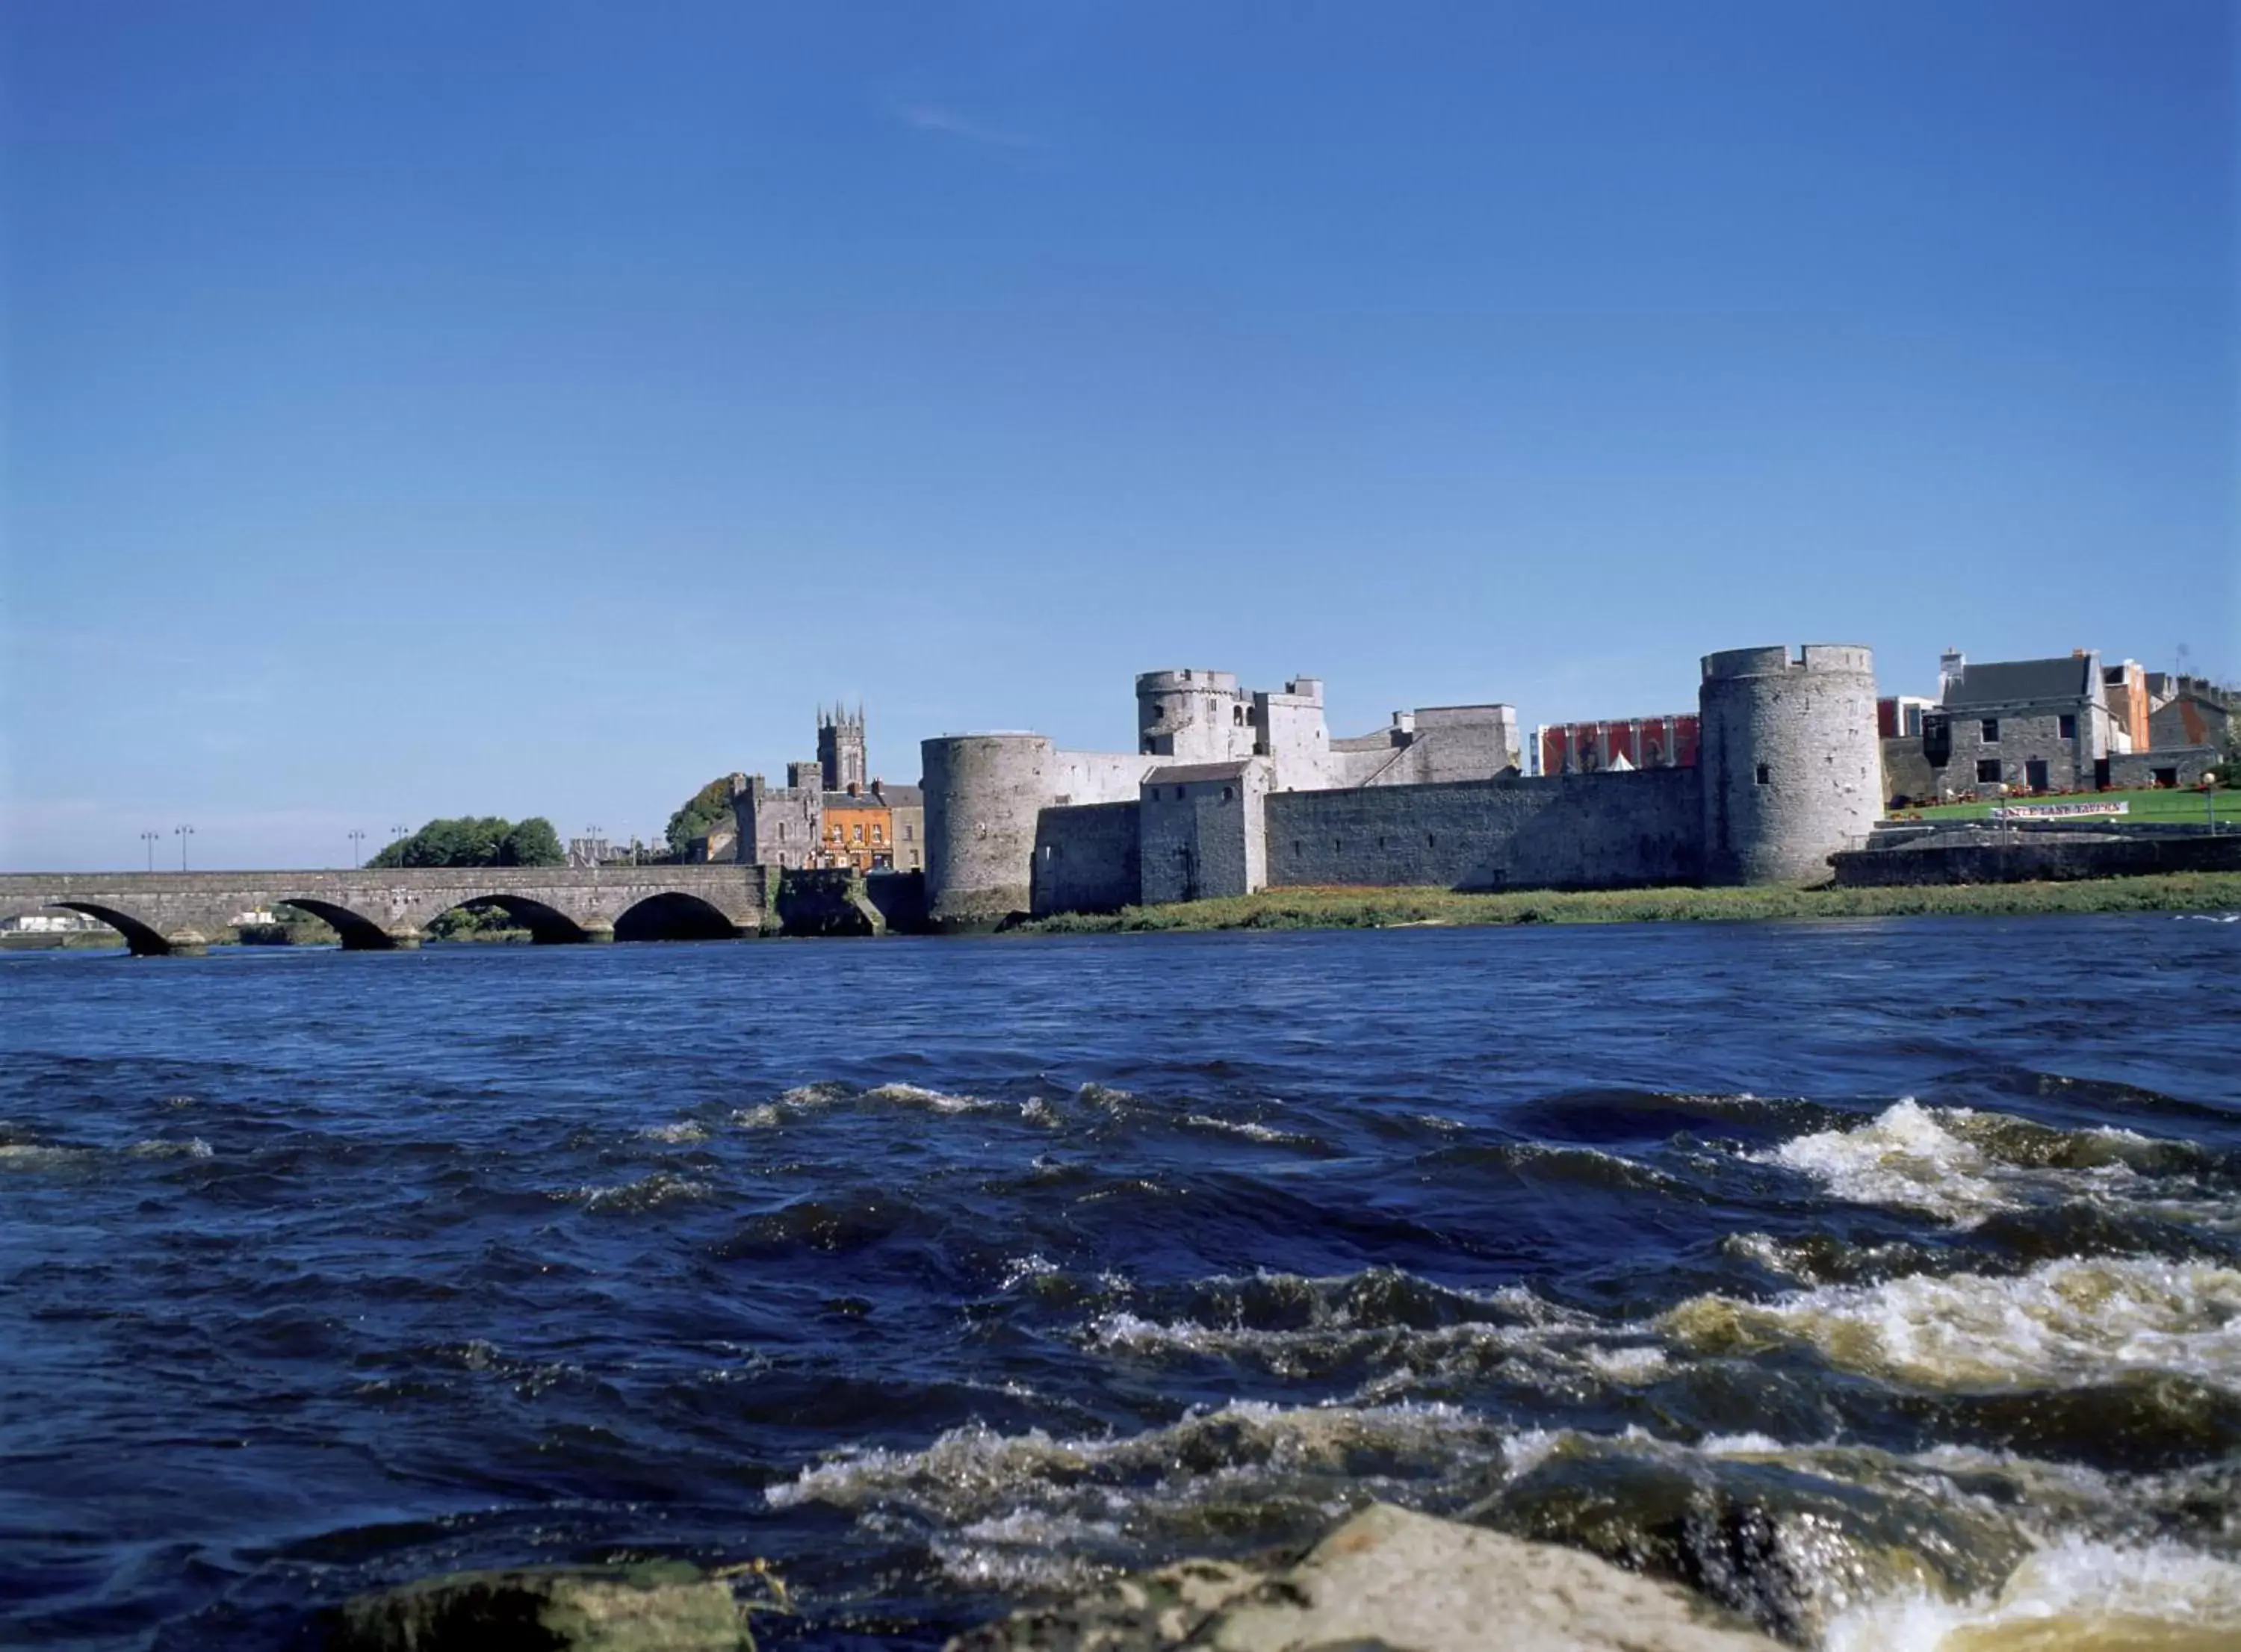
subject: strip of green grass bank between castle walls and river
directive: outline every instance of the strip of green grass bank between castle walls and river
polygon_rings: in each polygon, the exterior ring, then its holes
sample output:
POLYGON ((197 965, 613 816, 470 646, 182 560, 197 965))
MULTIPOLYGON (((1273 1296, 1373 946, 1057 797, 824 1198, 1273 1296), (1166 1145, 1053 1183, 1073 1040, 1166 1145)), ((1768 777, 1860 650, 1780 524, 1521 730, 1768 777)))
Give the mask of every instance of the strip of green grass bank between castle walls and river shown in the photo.
POLYGON ((1717 924, 1795 917, 2019 917, 2037 912, 2205 912, 2241 908, 2241 872, 2174 872, 2075 883, 1963 883, 1898 890, 1264 890, 1219 901, 1125 906, 1022 924, 1022 935, 1138 930, 1376 930, 1407 924, 1717 924))

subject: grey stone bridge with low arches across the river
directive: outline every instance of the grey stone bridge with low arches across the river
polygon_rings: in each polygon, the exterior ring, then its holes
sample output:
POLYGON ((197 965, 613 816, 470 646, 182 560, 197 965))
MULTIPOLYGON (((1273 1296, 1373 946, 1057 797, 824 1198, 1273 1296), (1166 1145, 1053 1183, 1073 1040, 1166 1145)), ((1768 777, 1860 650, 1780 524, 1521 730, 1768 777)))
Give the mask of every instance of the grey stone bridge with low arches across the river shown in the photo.
POLYGON ((0 917, 83 912, 141 955, 199 953, 276 906, 325 919, 352 950, 419 946, 455 906, 500 906, 538 941, 715 939, 775 928, 775 883, 760 865, 7 872, 0 917))

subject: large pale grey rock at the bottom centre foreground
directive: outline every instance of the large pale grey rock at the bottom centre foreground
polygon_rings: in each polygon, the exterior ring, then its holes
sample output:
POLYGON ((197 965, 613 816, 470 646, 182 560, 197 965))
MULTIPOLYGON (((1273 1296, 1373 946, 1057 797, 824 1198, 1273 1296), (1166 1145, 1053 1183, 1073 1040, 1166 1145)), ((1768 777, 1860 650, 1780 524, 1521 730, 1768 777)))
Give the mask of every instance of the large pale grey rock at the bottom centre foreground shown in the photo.
POLYGON ((1020 1612, 950 1652, 1777 1652, 1719 1607, 1609 1560, 1374 1504, 1293 1567, 1185 1560, 1020 1612))

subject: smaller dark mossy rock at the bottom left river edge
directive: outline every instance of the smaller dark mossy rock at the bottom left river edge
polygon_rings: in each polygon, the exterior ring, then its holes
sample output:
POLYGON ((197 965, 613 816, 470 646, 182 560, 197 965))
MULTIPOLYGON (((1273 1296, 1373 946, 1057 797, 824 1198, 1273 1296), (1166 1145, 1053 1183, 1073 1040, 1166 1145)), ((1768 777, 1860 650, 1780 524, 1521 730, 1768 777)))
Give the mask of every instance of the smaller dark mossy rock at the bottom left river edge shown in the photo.
POLYGON ((329 1652, 740 1652, 731 1585, 679 1562, 459 1571, 361 1594, 329 1652))

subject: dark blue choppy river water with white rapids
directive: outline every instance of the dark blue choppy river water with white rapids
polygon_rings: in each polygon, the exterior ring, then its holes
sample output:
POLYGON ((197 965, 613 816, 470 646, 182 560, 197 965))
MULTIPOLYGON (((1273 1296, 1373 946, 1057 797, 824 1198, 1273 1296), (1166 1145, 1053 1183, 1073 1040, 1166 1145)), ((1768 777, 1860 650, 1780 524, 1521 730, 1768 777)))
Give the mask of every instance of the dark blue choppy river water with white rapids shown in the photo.
POLYGON ((0 1040, 0 1643, 675 1553, 934 1645, 1369 1497, 2241 1643, 2216 915, 34 953, 0 1040))

